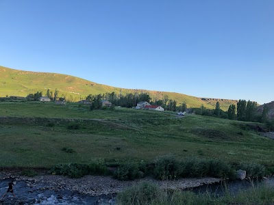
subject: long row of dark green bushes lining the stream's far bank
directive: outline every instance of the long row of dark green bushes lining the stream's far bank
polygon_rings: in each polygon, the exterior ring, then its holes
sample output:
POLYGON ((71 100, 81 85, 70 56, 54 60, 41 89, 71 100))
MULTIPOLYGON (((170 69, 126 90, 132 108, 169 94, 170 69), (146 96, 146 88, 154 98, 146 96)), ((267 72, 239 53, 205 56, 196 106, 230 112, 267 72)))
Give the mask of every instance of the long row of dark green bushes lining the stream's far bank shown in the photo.
MULTIPOLYGON (((173 180, 188 177, 236 178, 236 169, 247 171, 248 178, 262 178, 266 174, 263 165, 257 163, 240 163, 232 165, 219 159, 187 158, 178 160, 174 155, 159 156, 152 164, 145 161, 127 161, 118 163, 112 173, 119 180, 134 180, 146 175, 152 175, 160 180, 173 180)), ((60 164, 51 168, 52 174, 60 174, 71 178, 79 178, 86 174, 111 174, 103 160, 92 161, 88 165, 80 163, 60 164)), ((270 172, 270 171, 269 171, 270 172)))

